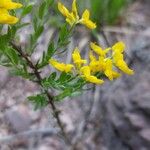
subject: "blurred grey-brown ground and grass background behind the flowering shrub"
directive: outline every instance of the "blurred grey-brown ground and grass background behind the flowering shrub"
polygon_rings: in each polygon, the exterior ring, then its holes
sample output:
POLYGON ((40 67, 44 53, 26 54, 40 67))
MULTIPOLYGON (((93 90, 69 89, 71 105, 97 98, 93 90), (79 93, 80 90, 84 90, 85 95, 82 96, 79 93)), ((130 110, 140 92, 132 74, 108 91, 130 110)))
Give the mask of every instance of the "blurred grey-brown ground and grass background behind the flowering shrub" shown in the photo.
MULTIPOLYGON (((36 5, 40 1, 32 1, 36 5)), ((64 0, 71 7, 72 1, 64 0)), ((103 47, 117 41, 126 44, 126 61, 135 75, 123 75, 113 82, 85 91, 81 96, 57 103, 66 131, 77 150, 150 150, 150 0, 77 0, 80 14, 85 8, 97 23, 92 33, 77 26, 64 61, 71 61, 71 50, 78 46, 88 57, 89 41, 103 47)), ((39 39, 33 61, 37 60, 50 39, 55 39, 64 22, 57 3, 48 10, 50 19, 39 39)), ((36 9, 32 14, 36 13, 36 9)), ((24 18, 32 21, 32 17, 24 18)), ((19 32, 23 46, 28 43, 30 27, 19 32)), ((49 73, 49 68, 43 72, 49 73)), ((0 66, 0 150, 69 150, 49 108, 34 111, 27 96, 39 87, 13 77, 0 66)))

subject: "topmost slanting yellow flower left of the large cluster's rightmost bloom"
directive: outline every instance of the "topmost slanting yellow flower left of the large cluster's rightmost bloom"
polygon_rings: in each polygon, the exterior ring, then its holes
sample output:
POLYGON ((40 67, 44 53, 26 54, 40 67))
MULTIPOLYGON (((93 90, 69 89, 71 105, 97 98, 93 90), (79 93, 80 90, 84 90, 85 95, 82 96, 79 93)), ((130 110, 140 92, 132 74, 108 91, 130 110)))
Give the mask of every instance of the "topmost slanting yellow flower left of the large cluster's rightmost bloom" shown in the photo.
POLYGON ((103 57, 106 57, 106 54, 108 53, 108 51, 111 50, 111 48, 107 48, 103 50, 100 46, 96 45, 93 42, 90 43, 90 47, 96 54, 103 56, 103 57))

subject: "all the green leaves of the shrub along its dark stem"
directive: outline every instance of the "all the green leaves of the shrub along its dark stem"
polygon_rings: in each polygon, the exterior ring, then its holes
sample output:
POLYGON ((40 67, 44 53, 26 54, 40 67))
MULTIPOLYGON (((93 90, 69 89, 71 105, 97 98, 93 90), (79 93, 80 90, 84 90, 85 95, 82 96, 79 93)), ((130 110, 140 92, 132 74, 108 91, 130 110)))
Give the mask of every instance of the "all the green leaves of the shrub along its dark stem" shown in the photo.
MULTIPOLYGON (((51 7, 56 8, 56 3, 54 4, 54 0, 41 0, 37 3, 29 0, 20 0, 19 2, 22 2, 24 7, 21 10, 12 11, 11 13, 20 16, 20 22, 8 26, 7 31, 4 33, 3 25, 0 25, 0 65, 9 67, 11 75, 21 76, 22 78, 39 83, 34 72, 35 69, 30 67, 26 58, 28 59, 36 51, 39 38, 45 32, 46 27, 50 25, 52 15, 49 13, 49 10, 51 7), (25 17, 32 17, 31 21, 22 21, 25 17), (25 48, 21 48, 19 43, 18 32, 22 28, 31 29, 25 48), (16 43, 17 49, 20 49, 23 55, 12 46, 12 43, 16 43)), ((49 41, 47 48, 43 49, 43 55, 35 64, 37 72, 40 73, 40 70, 49 64, 51 57, 54 57, 58 53, 64 53, 67 50, 66 46, 70 42, 73 28, 69 28, 65 23, 59 25, 58 36, 56 39, 49 41)), ((41 79, 40 82, 42 86, 41 92, 28 97, 28 100, 34 104, 35 109, 45 107, 48 104, 46 91, 49 89, 55 90, 53 99, 60 101, 68 96, 79 95, 85 85, 85 81, 80 77, 65 72, 61 74, 52 72, 48 77, 41 79)))

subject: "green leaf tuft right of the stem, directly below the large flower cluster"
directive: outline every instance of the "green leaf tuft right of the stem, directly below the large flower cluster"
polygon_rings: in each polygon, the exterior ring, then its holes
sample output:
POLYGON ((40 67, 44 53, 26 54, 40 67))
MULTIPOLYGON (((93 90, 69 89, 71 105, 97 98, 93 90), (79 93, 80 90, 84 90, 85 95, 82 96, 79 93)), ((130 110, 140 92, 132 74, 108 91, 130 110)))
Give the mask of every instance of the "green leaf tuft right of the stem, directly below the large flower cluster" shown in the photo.
POLYGON ((58 94, 54 97, 56 101, 81 94, 85 83, 80 77, 65 72, 62 72, 59 77, 56 72, 53 72, 42 81, 43 87, 57 90, 58 94))

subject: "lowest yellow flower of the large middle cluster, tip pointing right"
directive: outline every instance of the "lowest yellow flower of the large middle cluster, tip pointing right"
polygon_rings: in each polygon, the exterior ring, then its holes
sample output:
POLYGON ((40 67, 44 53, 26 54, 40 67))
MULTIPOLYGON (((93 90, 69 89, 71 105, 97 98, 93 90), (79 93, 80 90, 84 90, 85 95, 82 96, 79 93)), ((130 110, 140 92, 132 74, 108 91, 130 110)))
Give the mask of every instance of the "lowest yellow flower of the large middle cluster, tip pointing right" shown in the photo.
POLYGON ((95 84, 104 83, 103 80, 98 79, 96 76, 91 75, 89 66, 83 66, 80 69, 80 72, 83 74, 82 77, 88 82, 95 83, 95 84))

